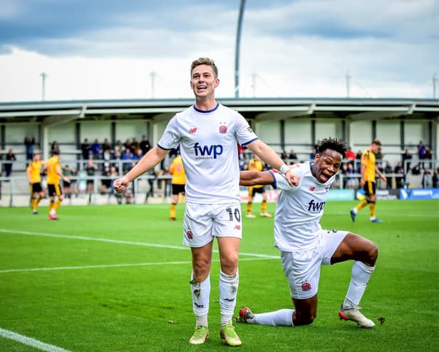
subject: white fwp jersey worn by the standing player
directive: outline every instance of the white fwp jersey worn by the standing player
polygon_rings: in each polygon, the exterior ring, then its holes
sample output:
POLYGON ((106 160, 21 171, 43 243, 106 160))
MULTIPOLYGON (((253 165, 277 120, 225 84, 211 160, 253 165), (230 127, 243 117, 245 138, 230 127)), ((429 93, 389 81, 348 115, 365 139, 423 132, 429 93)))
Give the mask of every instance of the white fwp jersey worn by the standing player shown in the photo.
POLYGON ((172 149, 180 145, 187 201, 228 203, 240 201, 238 143, 245 146, 256 139, 237 111, 222 104, 201 111, 194 105, 172 117, 158 146, 172 149))

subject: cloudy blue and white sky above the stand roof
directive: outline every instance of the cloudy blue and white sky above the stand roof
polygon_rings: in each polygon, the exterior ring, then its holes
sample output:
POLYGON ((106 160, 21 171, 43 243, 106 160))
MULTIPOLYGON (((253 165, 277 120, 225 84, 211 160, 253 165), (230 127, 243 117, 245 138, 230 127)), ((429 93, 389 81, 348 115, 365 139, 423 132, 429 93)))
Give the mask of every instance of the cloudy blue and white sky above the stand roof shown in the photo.
MULTIPOLYGON (((239 5, 0 0, 0 102, 192 98, 206 56, 234 97, 239 5)), ((432 99, 439 0, 247 0, 240 44, 242 98, 432 99)))

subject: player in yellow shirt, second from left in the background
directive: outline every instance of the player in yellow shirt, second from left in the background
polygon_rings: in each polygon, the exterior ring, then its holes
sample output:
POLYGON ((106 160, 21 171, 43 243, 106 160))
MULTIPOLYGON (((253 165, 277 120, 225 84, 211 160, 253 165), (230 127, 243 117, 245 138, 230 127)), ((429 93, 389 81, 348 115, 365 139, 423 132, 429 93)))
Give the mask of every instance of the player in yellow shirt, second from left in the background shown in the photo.
POLYGON ((46 171, 48 196, 51 199, 51 203, 48 207, 48 218, 49 220, 57 220, 56 209, 61 206, 61 202, 64 198, 63 189, 59 181, 61 178, 65 181, 69 181, 68 177, 63 176, 61 162, 59 161, 59 151, 52 151, 51 158, 46 161, 46 171), (56 201, 55 198, 57 198, 56 201))

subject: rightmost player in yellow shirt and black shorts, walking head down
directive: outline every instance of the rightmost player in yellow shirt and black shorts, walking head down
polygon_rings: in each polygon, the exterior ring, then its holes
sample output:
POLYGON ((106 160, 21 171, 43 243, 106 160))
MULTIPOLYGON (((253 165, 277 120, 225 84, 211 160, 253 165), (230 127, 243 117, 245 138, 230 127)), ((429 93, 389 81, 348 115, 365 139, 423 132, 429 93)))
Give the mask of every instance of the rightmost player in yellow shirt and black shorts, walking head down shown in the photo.
POLYGON ((369 205, 371 210, 371 223, 381 223, 379 218, 376 217, 375 204, 376 204, 376 182, 375 175, 381 177, 386 182, 387 178, 378 170, 375 164, 375 154, 381 149, 381 141, 374 139, 371 145, 363 151, 361 154, 361 180, 360 186, 364 189, 364 195, 366 199, 363 199, 358 205, 351 209, 351 219, 355 221, 356 214, 365 206, 369 205))

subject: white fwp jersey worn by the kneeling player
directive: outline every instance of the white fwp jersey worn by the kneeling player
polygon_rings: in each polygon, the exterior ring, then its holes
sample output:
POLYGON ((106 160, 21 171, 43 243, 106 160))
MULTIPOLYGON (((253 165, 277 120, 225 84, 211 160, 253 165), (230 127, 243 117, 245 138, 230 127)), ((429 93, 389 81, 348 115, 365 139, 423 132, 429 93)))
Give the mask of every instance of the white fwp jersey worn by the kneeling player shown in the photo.
POLYGON ((289 186, 283 175, 272 172, 273 186, 280 190, 274 215, 274 246, 281 251, 307 251, 316 246, 320 218, 335 175, 326 183, 319 183, 311 166, 309 161, 291 166, 291 171, 300 176, 296 187, 289 186))

